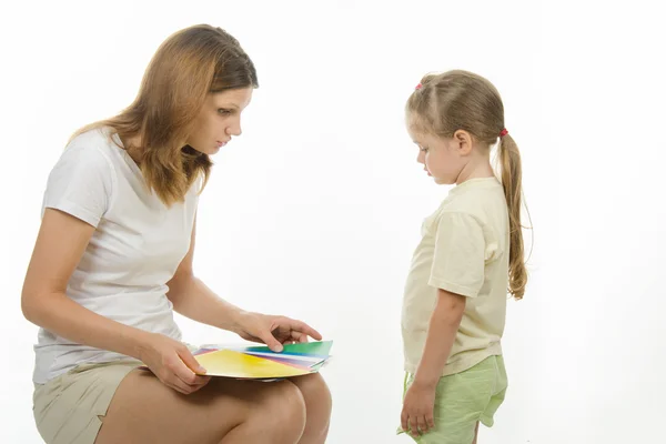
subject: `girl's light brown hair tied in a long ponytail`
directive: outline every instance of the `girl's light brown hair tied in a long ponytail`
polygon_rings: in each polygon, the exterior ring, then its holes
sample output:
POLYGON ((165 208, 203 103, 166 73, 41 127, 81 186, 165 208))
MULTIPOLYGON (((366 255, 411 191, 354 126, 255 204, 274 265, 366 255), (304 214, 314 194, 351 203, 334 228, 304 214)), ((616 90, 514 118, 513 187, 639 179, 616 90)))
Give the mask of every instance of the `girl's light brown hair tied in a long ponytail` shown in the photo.
POLYGON ((452 138, 467 131, 482 144, 500 139, 501 181, 508 206, 509 264, 508 293, 523 299, 527 284, 521 224, 522 167, 514 139, 505 133, 504 104, 497 89, 475 73, 454 70, 425 75, 406 103, 410 124, 417 132, 452 138))

